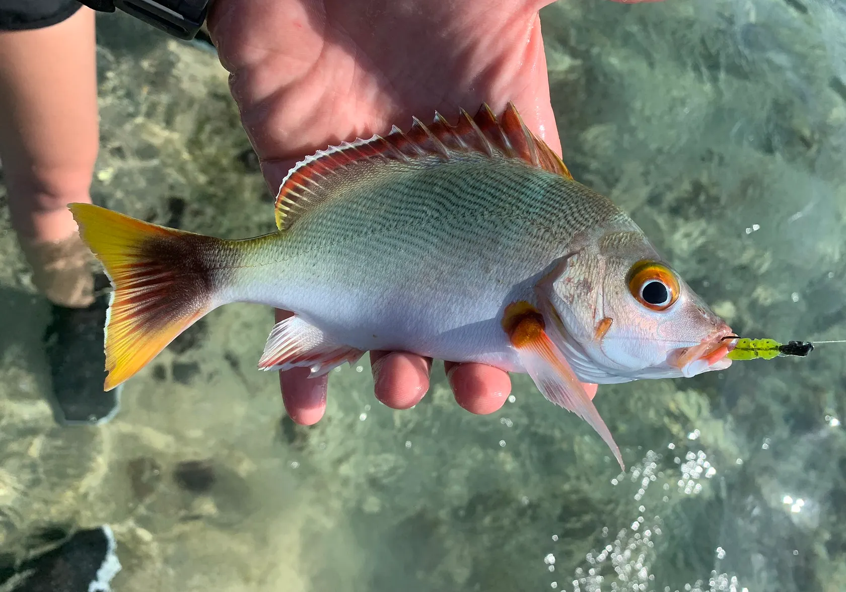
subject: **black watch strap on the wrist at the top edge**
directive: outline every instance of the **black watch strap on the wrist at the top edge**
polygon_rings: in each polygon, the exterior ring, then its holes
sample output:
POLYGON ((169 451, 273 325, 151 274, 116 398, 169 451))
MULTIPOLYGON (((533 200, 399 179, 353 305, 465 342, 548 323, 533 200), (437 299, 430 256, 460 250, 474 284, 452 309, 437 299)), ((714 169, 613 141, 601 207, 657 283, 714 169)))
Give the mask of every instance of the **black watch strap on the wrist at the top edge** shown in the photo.
POLYGON ((179 39, 194 39, 206 20, 210 0, 79 0, 99 12, 120 8, 179 39))

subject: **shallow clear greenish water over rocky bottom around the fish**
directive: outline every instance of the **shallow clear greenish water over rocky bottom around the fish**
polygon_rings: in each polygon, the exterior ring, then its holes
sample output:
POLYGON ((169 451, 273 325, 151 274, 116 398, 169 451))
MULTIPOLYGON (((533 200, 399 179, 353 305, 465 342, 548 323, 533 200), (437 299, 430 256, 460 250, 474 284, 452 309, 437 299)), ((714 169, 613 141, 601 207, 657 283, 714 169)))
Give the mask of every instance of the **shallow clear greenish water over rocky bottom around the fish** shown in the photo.
MULTIPOLYGON (((564 161, 609 195, 733 328, 846 337, 846 12, 837 0, 568 0, 542 13, 564 161)), ((99 24, 100 203, 244 237, 272 206, 210 52, 99 24), (169 209, 168 209, 169 208, 169 209), (179 210, 179 207, 176 208, 179 210)), ((0 536, 110 523, 116 590, 846 588, 846 346, 678 381, 601 386, 628 471, 525 376, 497 414, 416 408, 332 374, 327 416, 283 417, 253 370, 272 314, 217 310, 59 428, 47 306, 0 210, 0 536), (201 460, 214 483, 179 486, 201 460), (636 586, 636 587, 635 587, 636 586)))

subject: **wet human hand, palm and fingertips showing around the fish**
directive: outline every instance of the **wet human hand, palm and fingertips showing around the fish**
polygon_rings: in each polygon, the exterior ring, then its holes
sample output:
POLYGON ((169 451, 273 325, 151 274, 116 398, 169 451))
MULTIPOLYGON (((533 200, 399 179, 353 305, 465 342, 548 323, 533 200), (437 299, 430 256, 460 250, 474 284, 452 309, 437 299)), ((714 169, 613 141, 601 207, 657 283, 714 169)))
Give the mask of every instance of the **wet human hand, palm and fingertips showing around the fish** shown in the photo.
MULTIPOLYGON (((529 129, 560 154, 538 17, 549 3, 218 0, 208 22, 276 193, 300 158, 327 145, 482 101, 497 112, 514 101, 529 129)), ((388 407, 412 407, 428 390, 431 359, 371 352, 371 368, 388 407)), ((446 369, 468 411, 490 414, 505 403, 511 385, 502 370, 451 362, 446 369)), ((307 375, 287 370, 280 381, 288 414, 309 425, 326 408, 327 378, 307 375)), ((595 384, 584 386, 596 394, 595 384)))

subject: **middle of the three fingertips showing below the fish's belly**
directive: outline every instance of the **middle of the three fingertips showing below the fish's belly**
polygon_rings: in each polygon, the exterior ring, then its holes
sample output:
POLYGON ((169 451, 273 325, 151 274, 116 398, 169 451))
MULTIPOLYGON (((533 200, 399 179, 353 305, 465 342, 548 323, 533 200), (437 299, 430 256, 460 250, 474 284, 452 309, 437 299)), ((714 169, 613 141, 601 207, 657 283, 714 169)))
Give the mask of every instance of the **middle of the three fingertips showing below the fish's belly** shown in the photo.
POLYGON ((376 398, 393 409, 420 403, 429 390, 431 358, 405 352, 371 352, 376 398))

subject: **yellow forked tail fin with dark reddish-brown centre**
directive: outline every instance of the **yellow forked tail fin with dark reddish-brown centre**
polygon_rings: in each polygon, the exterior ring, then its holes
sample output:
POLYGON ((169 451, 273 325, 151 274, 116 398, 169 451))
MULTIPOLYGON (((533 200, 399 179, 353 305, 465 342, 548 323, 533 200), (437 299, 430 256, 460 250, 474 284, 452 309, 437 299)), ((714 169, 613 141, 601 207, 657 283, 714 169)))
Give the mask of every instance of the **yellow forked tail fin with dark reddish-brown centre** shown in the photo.
POLYGON ((228 241, 142 222, 91 204, 70 204, 114 292, 106 321, 109 391, 144 368, 179 333, 222 302, 228 241))

